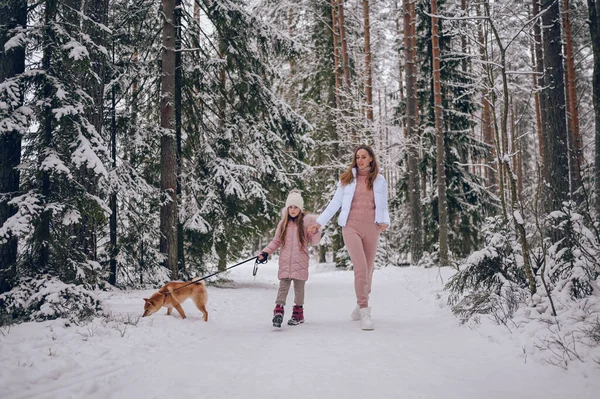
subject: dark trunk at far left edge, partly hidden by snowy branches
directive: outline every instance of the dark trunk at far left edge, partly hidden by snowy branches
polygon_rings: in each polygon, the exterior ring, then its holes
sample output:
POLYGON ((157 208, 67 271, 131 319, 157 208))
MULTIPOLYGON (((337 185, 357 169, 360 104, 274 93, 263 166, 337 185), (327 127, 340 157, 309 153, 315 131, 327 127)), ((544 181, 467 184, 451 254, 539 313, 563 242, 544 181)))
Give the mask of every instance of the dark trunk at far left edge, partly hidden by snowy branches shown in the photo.
MULTIPOLYGON (((0 48, 10 38, 9 31, 27 23, 27 1, 8 0, 0 5, 0 48)), ((25 48, 16 47, 10 51, 0 51, 0 82, 14 78, 25 71, 25 48)), ((22 94, 18 104, 23 102, 22 94)), ((16 208, 8 205, 19 191, 19 171, 21 163, 21 132, 17 130, 0 131, 0 226, 16 213, 16 208), (3 197, 3 198, 2 198, 3 197)), ((16 276, 17 237, 11 235, 0 243, 0 294, 9 291, 16 276)))

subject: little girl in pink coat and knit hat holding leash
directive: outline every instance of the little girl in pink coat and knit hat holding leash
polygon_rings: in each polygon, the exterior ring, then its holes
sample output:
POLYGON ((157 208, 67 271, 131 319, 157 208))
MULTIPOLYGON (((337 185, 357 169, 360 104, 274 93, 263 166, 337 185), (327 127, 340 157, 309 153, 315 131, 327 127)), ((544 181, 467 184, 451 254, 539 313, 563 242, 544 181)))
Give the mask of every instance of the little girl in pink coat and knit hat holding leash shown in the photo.
POLYGON ((304 200, 299 190, 290 191, 285 202, 281 221, 277 225, 275 237, 258 255, 258 260, 266 260, 281 247, 279 253, 279 291, 273 310, 273 327, 281 327, 285 300, 294 283, 294 309, 288 321, 290 326, 304 323, 304 284, 308 280, 308 243, 315 246, 321 240, 321 233, 309 233, 308 227, 316 221, 314 215, 303 211, 304 200))

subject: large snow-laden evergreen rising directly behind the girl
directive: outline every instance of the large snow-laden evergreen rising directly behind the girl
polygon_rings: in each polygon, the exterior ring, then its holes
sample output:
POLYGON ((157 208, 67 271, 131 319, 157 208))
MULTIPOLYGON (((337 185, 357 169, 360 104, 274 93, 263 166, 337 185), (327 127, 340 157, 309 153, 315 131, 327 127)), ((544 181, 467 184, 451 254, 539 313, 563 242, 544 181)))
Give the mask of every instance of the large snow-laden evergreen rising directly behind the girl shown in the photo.
POLYGON ((187 14, 181 214, 190 262, 226 262, 279 217, 302 171, 305 121, 271 86, 292 44, 238 1, 198 4, 211 28, 187 14), (217 60, 217 61, 215 61, 217 60))

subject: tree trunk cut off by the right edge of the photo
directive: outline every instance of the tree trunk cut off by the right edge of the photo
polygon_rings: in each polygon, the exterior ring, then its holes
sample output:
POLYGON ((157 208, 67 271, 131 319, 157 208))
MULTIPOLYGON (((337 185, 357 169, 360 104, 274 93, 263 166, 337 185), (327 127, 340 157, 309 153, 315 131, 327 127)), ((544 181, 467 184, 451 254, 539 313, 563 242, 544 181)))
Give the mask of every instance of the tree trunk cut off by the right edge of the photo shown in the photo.
POLYGON ((596 132, 594 157, 594 183, 596 191, 596 218, 600 220, 600 1, 588 0, 589 26, 592 37, 592 52, 594 54, 594 74, 592 78, 593 104, 596 132))

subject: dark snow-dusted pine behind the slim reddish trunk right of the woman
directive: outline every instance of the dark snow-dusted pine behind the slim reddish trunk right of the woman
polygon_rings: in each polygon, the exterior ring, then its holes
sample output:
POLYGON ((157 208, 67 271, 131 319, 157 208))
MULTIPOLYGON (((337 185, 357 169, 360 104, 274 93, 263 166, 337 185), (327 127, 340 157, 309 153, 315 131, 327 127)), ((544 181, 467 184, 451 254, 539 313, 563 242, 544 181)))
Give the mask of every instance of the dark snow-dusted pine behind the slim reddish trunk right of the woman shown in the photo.
MULTIPOLYGON (((438 14, 452 16, 446 11, 445 2, 439 3, 438 14)), ((417 46, 423 54, 418 68, 419 76, 419 110, 422 111, 424 157, 421 170, 427 171, 430 182, 435 181, 435 134, 434 104, 432 83, 432 49, 431 18, 429 2, 417 3, 417 14, 420 32, 417 46)), ((454 53, 454 46, 459 45, 459 37, 454 26, 440 18, 440 51, 441 51, 441 93, 445 132, 445 173, 446 194, 448 201, 449 249, 457 256, 469 254, 480 243, 479 226, 487 215, 493 214, 497 202, 491 193, 482 185, 476 174, 463 166, 470 159, 484 158, 489 147, 471 135, 474 105, 474 77, 470 72, 460 68, 463 57, 454 53)), ((467 59, 467 63, 469 59, 467 59)), ((423 172, 422 172, 423 173, 423 172)), ((423 220, 425 221, 425 248, 432 251, 438 242, 438 206, 437 195, 427 195, 424 200, 423 220)))

